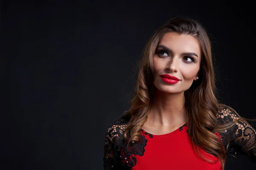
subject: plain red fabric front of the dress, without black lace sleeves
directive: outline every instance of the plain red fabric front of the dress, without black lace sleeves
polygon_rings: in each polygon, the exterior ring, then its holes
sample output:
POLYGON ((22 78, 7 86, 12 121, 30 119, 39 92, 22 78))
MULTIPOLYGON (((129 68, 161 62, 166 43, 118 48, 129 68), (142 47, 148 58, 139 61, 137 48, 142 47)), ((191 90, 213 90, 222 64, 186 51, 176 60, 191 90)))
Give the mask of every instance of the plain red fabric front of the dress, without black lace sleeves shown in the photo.
MULTIPOLYGON (((193 150, 187 124, 164 135, 145 135, 147 139, 143 156, 136 156, 136 166, 131 170, 221 170, 220 161, 209 163, 193 150)), ((218 160, 201 150, 207 159, 218 160)))

